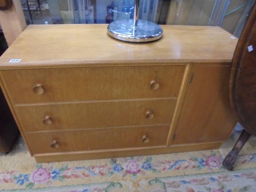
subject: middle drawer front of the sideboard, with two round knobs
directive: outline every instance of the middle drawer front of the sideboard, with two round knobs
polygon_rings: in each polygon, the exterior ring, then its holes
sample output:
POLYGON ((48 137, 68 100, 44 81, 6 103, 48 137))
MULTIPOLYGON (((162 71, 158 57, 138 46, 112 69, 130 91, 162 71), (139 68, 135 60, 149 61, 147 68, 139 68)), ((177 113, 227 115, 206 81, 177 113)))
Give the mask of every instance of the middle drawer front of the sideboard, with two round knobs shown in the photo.
POLYGON ((175 99, 16 107, 25 131, 170 124, 175 99))

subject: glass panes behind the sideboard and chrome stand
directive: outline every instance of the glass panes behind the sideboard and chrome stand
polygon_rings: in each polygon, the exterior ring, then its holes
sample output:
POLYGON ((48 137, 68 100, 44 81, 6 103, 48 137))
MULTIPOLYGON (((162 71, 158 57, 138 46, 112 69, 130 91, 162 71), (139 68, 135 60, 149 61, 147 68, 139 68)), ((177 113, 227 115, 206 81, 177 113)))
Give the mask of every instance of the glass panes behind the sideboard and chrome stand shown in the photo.
MULTIPOLYGON (((254 2, 140 0, 139 18, 158 24, 221 26, 239 37, 254 2)), ((133 18, 134 12, 134 0, 21 0, 21 3, 28 24, 110 23, 133 18)))

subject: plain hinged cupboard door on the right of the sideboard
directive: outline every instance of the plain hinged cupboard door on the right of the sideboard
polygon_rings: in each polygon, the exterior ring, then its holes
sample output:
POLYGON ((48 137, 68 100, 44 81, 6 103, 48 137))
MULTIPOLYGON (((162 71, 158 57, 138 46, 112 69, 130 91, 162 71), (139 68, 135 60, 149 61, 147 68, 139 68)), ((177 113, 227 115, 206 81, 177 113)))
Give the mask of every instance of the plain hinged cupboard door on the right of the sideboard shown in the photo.
POLYGON ((196 64, 173 144, 224 141, 236 122, 229 103, 230 66, 196 64))

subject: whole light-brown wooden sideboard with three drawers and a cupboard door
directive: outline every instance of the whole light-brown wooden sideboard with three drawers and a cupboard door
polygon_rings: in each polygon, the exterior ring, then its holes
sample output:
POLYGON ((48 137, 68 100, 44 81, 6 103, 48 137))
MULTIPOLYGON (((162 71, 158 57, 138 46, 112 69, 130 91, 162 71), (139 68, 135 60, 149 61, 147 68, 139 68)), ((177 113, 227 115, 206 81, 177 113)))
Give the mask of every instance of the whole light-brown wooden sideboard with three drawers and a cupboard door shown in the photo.
POLYGON ((0 58, 0 82, 37 162, 205 150, 228 139, 237 39, 219 27, 162 28, 148 44, 112 39, 105 24, 21 33, 0 58))

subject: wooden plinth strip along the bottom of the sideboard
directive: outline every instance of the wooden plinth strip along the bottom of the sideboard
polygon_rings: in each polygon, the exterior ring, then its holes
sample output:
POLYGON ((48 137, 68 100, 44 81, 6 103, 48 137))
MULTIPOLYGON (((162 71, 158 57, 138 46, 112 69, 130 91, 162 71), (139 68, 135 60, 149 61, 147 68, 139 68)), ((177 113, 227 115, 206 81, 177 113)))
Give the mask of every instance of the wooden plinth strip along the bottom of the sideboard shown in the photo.
POLYGON ((140 147, 140 148, 121 148, 121 149, 104 149, 90 151, 74 151, 74 152, 57 152, 57 153, 41 153, 35 154, 37 163, 46 163, 54 161, 77 161, 84 159, 101 159, 101 158, 117 158, 127 156, 156 155, 163 153, 178 153, 186 151, 199 151, 220 148, 221 142, 195 143, 189 145, 176 145, 171 147, 140 147))

